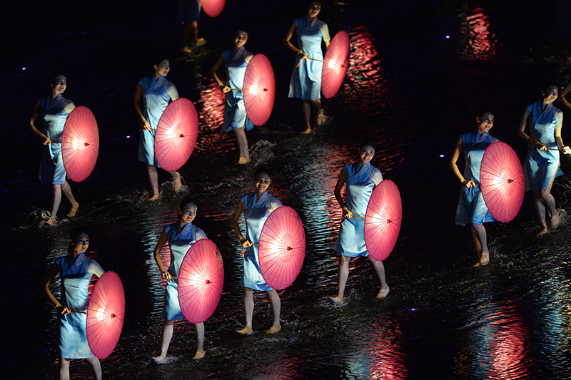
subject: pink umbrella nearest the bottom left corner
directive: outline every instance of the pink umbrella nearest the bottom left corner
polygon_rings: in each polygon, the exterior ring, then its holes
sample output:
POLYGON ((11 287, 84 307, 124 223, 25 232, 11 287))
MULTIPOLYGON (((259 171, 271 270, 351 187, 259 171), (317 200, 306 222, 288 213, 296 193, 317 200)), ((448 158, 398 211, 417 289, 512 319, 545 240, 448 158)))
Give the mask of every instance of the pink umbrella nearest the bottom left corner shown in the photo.
POLYGON ((111 354, 125 319, 125 292, 115 272, 105 272, 95 284, 87 307, 87 342, 99 359, 111 354))

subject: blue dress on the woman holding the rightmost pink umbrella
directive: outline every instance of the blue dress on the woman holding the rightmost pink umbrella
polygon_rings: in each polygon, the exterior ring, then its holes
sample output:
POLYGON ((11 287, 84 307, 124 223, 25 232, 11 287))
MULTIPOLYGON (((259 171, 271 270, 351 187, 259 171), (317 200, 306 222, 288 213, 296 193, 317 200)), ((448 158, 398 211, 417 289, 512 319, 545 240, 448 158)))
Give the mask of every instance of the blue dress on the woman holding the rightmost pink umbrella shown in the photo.
MULTIPOLYGON (((499 140, 493 138, 487 132, 480 135, 480 131, 477 129, 472 133, 463 134, 461 138, 464 142, 464 158, 466 161, 464 178, 479 184, 480 165, 482 164, 484 152, 490 144, 499 140)), ((475 223, 482 225, 484 222, 495 221, 490 211, 487 210, 480 185, 472 188, 463 188, 462 192, 460 192, 460 202, 458 202, 458 207, 456 207, 456 224, 467 225, 468 223, 475 223)))

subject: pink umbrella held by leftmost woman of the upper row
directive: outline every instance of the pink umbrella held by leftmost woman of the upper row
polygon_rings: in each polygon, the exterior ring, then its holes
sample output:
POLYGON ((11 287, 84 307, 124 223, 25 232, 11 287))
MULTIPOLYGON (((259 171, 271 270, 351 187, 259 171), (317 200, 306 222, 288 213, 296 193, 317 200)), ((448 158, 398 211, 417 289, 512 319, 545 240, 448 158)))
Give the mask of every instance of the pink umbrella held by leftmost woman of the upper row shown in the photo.
POLYGON ((61 156, 71 180, 81 182, 95 168, 99 153, 99 130, 89 108, 79 106, 71 111, 61 134, 61 156))

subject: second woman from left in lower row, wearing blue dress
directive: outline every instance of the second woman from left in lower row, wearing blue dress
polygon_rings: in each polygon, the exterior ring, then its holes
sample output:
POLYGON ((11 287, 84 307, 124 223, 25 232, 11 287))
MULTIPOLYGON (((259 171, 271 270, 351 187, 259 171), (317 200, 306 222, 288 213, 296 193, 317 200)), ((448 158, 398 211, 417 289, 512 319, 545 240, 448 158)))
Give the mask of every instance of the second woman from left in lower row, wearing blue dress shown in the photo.
MULTIPOLYGON (((157 364, 166 363, 166 351, 168 345, 171 344, 173 337, 174 322, 184 319, 181 305, 178 304, 178 269, 181 268, 184 256, 191 246, 201 239, 206 239, 206 234, 200 228, 192 224, 196 217, 196 203, 191 199, 185 199, 181 202, 181 207, 178 209, 178 221, 165 227, 161 236, 158 238, 154 250, 154 257, 158 269, 161 270, 161 276, 166 279, 165 289, 165 308, 163 310, 163 317, 165 322, 163 324, 163 339, 161 343, 161 354, 156 356, 155 361, 157 364), (163 267, 161 261, 161 250, 168 242, 168 247, 171 250, 171 265, 167 270, 163 267), (175 278, 173 278, 175 277, 175 278)), ((194 325, 196 327, 196 354, 193 359, 202 359, 205 355, 204 344, 204 323, 194 325)))

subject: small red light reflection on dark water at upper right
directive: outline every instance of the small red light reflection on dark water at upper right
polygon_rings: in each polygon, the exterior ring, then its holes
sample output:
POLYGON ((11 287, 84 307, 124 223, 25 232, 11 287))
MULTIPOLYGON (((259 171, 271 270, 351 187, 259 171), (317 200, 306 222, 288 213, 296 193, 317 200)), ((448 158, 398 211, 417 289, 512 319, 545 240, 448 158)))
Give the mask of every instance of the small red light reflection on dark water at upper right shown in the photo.
POLYGON ((490 61, 495 56, 495 36, 488 27, 490 21, 484 14, 484 9, 468 10, 463 22, 463 58, 473 61, 490 61))

